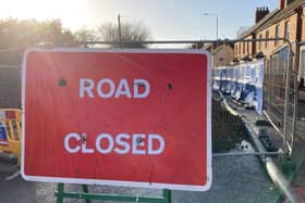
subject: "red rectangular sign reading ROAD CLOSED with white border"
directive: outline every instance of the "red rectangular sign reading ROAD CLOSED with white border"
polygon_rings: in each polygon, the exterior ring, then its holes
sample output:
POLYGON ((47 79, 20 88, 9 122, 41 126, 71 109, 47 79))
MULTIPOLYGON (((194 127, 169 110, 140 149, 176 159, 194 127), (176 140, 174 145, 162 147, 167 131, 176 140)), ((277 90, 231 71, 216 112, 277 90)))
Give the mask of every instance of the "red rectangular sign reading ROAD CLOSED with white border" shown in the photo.
POLYGON ((209 60, 202 50, 27 50, 23 178, 208 190, 209 60))

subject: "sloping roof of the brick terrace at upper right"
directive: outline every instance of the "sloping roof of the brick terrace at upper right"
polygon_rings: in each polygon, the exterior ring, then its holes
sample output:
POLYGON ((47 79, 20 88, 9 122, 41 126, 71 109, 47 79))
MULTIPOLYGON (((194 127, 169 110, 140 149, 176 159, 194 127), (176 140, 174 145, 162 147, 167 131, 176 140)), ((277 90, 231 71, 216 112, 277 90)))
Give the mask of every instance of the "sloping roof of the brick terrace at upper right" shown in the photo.
POLYGON ((276 9, 268 15, 266 15, 263 20, 260 20, 258 23, 253 25, 251 28, 248 28, 243 35, 241 35, 239 38, 243 39, 247 36, 252 35, 255 31, 260 31, 265 29, 266 27, 269 27, 278 22, 280 22, 282 18, 285 18, 290 16, 291 14, 295 13, 295 9, 297 9, 300 5, 305 4, 305 0, 295 0, 292 3, 290 3, 286 8, 283 10, 276 9))

